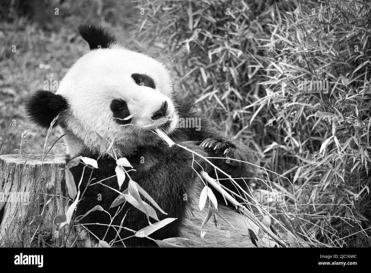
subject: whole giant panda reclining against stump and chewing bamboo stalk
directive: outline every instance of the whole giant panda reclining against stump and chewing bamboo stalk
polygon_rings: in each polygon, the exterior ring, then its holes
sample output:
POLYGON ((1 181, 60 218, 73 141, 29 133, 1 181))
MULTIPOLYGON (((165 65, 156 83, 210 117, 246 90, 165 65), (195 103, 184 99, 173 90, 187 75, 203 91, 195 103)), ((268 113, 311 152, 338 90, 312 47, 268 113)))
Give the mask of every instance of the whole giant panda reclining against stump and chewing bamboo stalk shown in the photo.
MULTIPOLYGON (((173 81, 164 64, 150 56, 123 48, 105 28, 92 24, 78 26, 80 35, 88 42, 91 51, 83 55, 60 82, 58 91, 39 90, 27 100, 25 109, 38 126, 59 127, 67 146, 67 161, 78 156, 98 159, 98 169, 92 174, 85 171, 80 189, 83 198, 76 208, 76 215, 84 215, 96 205, 101 205, 112 216, 118 211, 110 208, 117 192, 101 185, 86 187, 89 178, 123 191, 129 178, 126 176, 121 189, 115 177, 116 159, 108 154, 100 155, 99 133, 108 142, 117 157, 126 157, 134 169, 131 179, 138 183, 167 213, 156 209, 159 220, 177 218, 149 237, 162 240, 183 237, 183 246, 190 247, 251 247, 248 229, 257 227, 236 208, 226 204, 223 196, 216 194, 220 217, 211 217, 201 236, 201 224, 207 215, 200 211, 198 201, 204 182, 197 172, 204 169, 210 176, 225 178, 202 158, 173 145, 169 147, 153 129, 160 127, 175 143, 187 147, 204 157, 230 157, 255 163, 253 152, 246 145, 225 136, 205 113, 196 110, 192 101, 174 94, 173 81), (129 119, 128 119, 129 117, 129 119), (178 126, 180 118, 198 118, 200 130, 178 126), (167 119, 166 123, 157 121, 167 119), (154 125, 151 125, 154 124, 154 125), (196 160, 199 164, 192 164, 196 160), (107 179, 109 178, 109 179, 107 179), (98 198, 99 197, 99 198, 98 198), (220 219, 222 218, 222 219, 220 219), (224 220, 228 221, 225 222, 224 220), (232 226, 233 227, 232 227, 232 226), (238 232, 237 232, 237 231, 238 232), (202 237, 202 238, 201 238, 202 237)), ((253 164, 233 160, 210 159, 221 170, 236 178, 244 189, 250 186, 256 169, 253 164)), ((83 173, 83 165, 70 169, 76 185, 83 173)), ((220 183, 238 192, 228 179, 220 183)), ((215 192, 215 191, 214 191, 215 192)), ((215 192, 216 193, 216 192, 215 192)), ((148 226, 146 215, 125 203, 114 221, 103 211, 92 211, 79 224, 86 224, 89 231, 82 234, 90 238, 89 245, 99 240, 110 243, 117 237, 108 224, 122 226, 115 246, 151 247, 154 240, 133 236, 148 226), (87 225, 87 224, 91 225, 87 225), (95 224, 99 223, 99 224, 95 224), (94 234, 95 236, 93 236, 94 234)), ((154 222, 151 219, 152 223, 154 222)), ((116 238, 117 240, 117 238, 116 238)), ((266 240, 259 240, 263 246, 266 240)))

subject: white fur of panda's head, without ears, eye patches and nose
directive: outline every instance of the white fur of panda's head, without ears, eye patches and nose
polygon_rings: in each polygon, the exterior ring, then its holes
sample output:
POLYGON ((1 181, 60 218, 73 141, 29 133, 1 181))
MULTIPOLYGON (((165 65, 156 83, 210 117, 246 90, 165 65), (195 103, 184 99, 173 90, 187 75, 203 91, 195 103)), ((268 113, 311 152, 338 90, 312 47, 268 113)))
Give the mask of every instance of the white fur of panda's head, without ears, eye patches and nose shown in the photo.
POLYGON ((148 143, 154 134, 143 127, 154 122, 151 116, 164 101, 168 104, 168 118, 172 120, 168 132, 175 128, 178 120, 171 101, 173 83, 164 64, 118 46, 95 49, 82 56, 63 78, 56 94, 65 97, 70 105, 67 130, 62 133, 76 136, 66 137, 67 152, 72 156, 83 144, 92 151, 99 149, 94 131, 108 140, 115 138, 115 143, 122 145, 126 152, 148 143), (135 84, 131 78, 133 73, 150 76, 156 89, 135 84), (110 109, 114 99, 127 103, 133 114, 132 125, 119 126, 114 122, 110 109))

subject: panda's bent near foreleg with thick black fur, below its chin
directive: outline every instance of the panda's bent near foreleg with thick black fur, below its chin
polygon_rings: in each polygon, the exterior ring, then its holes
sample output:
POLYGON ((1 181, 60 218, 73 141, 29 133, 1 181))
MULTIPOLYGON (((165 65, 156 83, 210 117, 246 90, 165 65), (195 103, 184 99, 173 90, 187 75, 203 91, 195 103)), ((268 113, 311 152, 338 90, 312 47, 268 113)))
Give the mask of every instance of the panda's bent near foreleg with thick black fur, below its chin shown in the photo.
MULTIPOLYGON (((208 156, 196 142, 186 141, 179 144, 201 156, 208 156)), ((197 179, 197 173, 202 169, 206 170, 208 164, 201 157, 193 155, 177 145, 166 149, 157 147, 154 150, 148 150, 148 155, 156 156, 156 158, 148 158, 148 164, 151 164, 150 168, 146 166, 147 164, 134 165, 136 172, 132 174, 132 179, 168 214, 158 214, 160 220, 167 217, 178 218, 178 220, 151 234, 151 238, 162 240, 168 237, 177 237, 179 236, 181 222, 186 216, 188 201, 195 195, 195 189, 199 188, 196 183, 202 183, 197 179), (185 194, 187 200, 184 200, 185 194)), ((144 155, 144 158, 146 158, 146 155, 144 155)), ((127 218, 141 219, 140 225, 138 221, 134 224, 138 225, 137 227, 133 227, 133 223, 131 223, 133 229, 140 229, 146 225, 142 213, 135 209, 128 211, 127 218)))

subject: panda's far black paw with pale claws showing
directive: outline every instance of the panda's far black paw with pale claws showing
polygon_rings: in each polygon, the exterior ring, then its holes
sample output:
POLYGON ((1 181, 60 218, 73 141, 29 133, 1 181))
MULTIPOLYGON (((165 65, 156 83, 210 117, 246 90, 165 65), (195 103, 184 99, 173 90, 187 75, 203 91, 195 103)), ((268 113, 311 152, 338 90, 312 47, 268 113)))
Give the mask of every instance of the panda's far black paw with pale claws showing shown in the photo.
POLYGON ((200 146, 213 157, 227 158, 225 163, 232 166, 242 164, 242 162, 236 160, 246 160, 244 153, 229 140, 208 138, 201 142, 200 146), (228 158, 236 160, 228 160, 228 158))

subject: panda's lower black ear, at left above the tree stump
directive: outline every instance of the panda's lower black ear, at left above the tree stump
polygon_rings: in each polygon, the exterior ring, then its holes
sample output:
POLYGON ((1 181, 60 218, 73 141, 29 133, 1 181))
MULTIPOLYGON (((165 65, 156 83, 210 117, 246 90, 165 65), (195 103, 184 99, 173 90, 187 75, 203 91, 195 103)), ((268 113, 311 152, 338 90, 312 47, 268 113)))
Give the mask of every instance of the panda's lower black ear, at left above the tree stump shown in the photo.
MULTIPOLYGON (((61 95, 50 91, 37 90, 26 101, 27 116, 40 127, 49 128, 53 119, 68 108, 68 103, 61 95)), ((56 125, 62 125, 63 120, 58 118, 56 125)))

